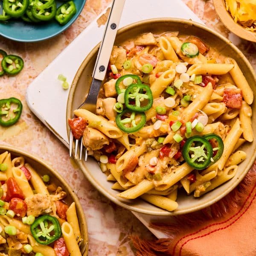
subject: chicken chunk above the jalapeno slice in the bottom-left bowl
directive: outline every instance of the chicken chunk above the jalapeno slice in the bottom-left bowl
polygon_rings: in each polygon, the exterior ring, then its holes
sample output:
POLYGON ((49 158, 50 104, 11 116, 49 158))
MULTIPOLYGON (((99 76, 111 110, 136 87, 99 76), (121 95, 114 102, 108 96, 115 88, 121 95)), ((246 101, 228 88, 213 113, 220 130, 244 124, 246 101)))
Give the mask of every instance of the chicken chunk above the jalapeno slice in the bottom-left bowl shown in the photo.
POLYGON ((52 202, 48 195, 35 194, 25 199, 27 204, 27 215, 34 215, 38 217, 42 214, 48 214, 52 212, 52 202))

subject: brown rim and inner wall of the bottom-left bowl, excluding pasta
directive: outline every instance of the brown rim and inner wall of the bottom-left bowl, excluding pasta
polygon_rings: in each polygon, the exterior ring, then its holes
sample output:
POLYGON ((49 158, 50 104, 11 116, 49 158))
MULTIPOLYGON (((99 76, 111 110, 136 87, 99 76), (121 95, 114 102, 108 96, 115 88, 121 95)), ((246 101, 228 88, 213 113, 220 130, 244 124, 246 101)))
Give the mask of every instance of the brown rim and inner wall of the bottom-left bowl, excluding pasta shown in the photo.
POLYGON ((83 256, 87 256, 88 254, 88 231, 87 231, 87 223, 86 218, 84 215, 84 210, 81 207, 79 199, 77 198, 76 194, 74 193, 73 189, 67 184, 67 182, 58 174, 54 169, 44 163, 40 158, 35 157, 31 154, 28 154, 24 151, 21 151, 16 148, 12 148, 9 146, 0 145, 0 154, 3 152, 8 151, 11 153, 11 157, 24 157, 25 163, 29 163, 39 175, 49 175, 51 180, 58 186, 61 186, 65 192, 67 192, 67 197, 65 201, 67 204, 71 204, 75 202, 76 204, 76 212, 78 216, 80 231, 81 231, 81 238, 84 239, 84 243, 87 243, 86 250, 83 256))

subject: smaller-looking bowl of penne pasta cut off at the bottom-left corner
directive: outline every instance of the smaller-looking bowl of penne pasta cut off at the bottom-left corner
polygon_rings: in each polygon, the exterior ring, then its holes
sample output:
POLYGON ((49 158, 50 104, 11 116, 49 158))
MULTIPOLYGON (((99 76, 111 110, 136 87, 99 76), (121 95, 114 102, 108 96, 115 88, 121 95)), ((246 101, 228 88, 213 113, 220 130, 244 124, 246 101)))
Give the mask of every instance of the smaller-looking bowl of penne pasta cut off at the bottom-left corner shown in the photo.
POLYGON ((0 180, 0 255, 87 255, 83 209, 57 172, 37 157, 0 146, 0 180))

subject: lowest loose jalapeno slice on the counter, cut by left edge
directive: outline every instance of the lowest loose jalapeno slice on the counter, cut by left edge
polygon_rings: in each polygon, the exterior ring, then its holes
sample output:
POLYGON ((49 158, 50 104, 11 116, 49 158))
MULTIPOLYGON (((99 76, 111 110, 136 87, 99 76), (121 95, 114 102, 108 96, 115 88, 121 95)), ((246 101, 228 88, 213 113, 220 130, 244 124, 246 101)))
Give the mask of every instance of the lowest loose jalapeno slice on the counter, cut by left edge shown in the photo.
POLYGON ((21 115, 22 103, 19 99, 0 99, 0 125, 10 126, 15 124, 21 115))

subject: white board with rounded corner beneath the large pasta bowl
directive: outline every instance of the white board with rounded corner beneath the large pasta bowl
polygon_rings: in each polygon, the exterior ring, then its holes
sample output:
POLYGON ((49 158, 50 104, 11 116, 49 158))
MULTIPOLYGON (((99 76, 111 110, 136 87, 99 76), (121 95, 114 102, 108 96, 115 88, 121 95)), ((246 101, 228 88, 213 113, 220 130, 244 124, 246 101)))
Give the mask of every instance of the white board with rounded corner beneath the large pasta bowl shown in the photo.
MULTIPOLYGON (((106 10, 103 13, 105 13, 106 10)), ((100 14, 99 17, 102 15, 100 14)), ((98 20, 98 18, 96 20, 98 20)), ((136 21, 173 17, 191 19, 203 23, 181 0, 126 0, 119 28, 136 21), (136 6, 136 8, 134 8, 136 6)), ((31 111, 68 147, 66 131, 66 106, 68 90, 63 90, 58 74, 64 74, 69 84, 87 54, 98 44, 104 26, 94 20, 83 32, 29 85, 26 101, 31 111), (47 99, 47 104, 45 104, 47 99), (52 110, 54 109, 54 115, 52 110), (58 118, 56 118, 58 116, 58 118)), ((133 212, 148 227, 153 217, 133 212)), ((170 217, 169 217, 170 218, 170 217)), ((155 219, 155 217, 154 217, 155 219)), ((165 235, 150 229, 158 238, 165 235)))

